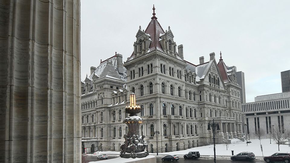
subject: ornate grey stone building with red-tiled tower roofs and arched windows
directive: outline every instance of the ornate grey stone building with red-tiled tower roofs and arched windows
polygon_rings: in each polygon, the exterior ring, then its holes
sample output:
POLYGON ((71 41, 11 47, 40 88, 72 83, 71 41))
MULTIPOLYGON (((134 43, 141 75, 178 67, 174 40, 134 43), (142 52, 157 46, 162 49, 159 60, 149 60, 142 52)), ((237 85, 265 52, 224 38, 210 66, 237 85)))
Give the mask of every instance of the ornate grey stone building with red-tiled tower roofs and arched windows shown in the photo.
POLYGON ((83 152, 120 151, 127 133, 122 123, 129 94, 136 94, 141 107, 141 135, 148 149, 176 151, 213 142, 207 124, 214 119, 221 130, 216 142, 241 137, 241 87, 237 75, 228 69, 222 56, 199 57, 198 64, 184 59, 183 45, 177 46, 170 27, 163 30, 154 12, 147 28, 137 31, 132 55, 125 59, 115 53, 91 67, 81 82, 83 152))

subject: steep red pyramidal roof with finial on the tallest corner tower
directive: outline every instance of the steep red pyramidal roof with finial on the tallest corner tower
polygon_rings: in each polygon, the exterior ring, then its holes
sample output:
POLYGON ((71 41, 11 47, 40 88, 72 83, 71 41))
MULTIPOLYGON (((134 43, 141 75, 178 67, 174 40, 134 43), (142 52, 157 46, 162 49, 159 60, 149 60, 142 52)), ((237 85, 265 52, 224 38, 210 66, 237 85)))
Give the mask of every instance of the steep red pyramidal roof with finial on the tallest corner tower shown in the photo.
POLYGON ((164 30, 161 27, 161 25, 159 24, 159 22, 157 21, 157 17, 155 16, 155 8, 153 5, 153 17, 151 18, 150 23, 148 24, 146 30, 145 30, 146 34, 150 35, 150 39, 151 39, 151 44, 149 46, 149 50, 160 50, 163 51, 162 46, 159 42, 159 36, 160 34, 164 34, 164 30))

